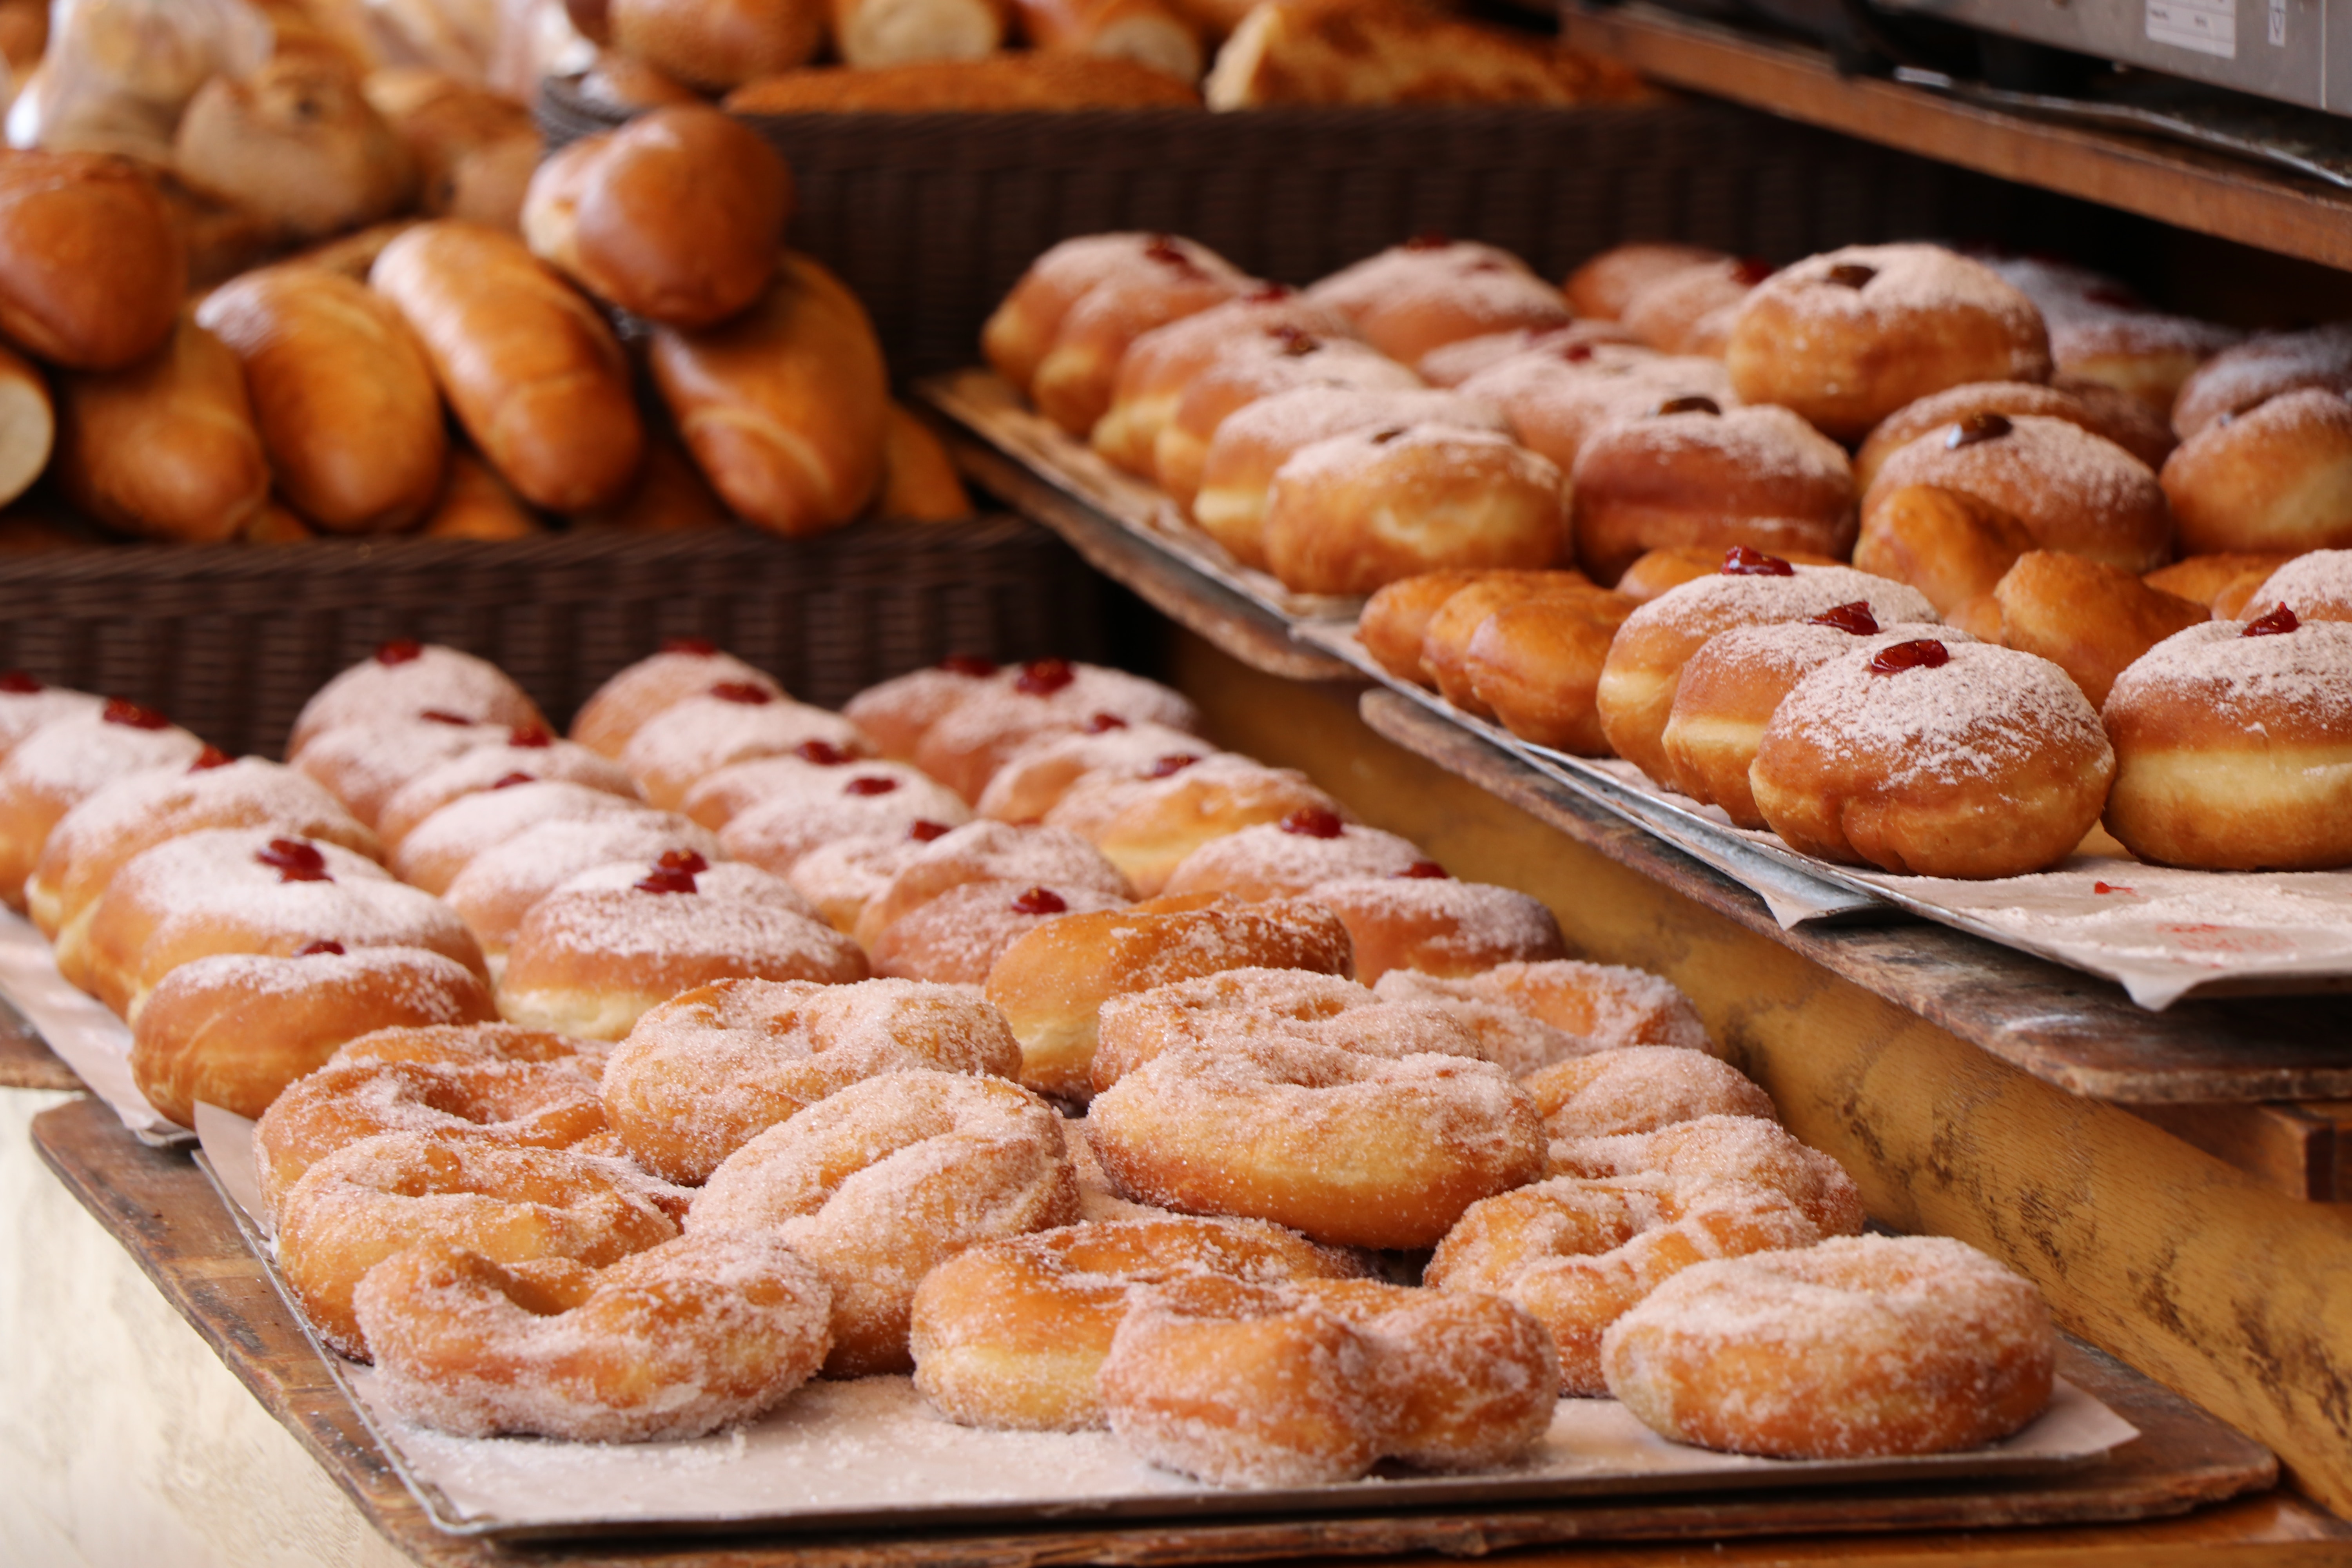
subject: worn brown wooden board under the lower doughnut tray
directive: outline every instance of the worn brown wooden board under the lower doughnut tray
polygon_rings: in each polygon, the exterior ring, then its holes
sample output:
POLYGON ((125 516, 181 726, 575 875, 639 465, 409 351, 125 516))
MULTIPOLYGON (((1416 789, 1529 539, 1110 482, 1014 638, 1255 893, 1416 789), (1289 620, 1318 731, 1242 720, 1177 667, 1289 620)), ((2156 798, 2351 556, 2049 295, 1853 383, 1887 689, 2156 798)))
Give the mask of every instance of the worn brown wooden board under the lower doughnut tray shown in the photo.
MULTIPOLYGON (((136 1258, 162 1295, 254 1396, 318 1458, 367 1519, 423 1563, 506 1563, 492 1544, 440 1535, 367 1439, 350 1401, 278 1300, 259 1260, 191 1159, 148 1150, 96 1103, 61 1105, 33 1124, 40 1157, 136 1258)), ((1592 1500, 1479 1512, 1428 1509, 1352 1519, 1247 1519, 1035 1530, 729 1540, 703 1556, 684 1542, 534 1552, 553 1563, 974 1566, 1204 1563, 1402 1552, 1482 1554, 1583 1540, 1722 1540, 1780 1533, 1978 1530, 2072 1521, 2159 1519, 2263 1490, 2277 1462, 2192 1403, 2079 1342, 2060 1371, 2093 1392, 2140 1439, 2063 1476, 1999 1486, 1924 1486, 1776 1495, 1705 1495, 1675 1505, 1592 1500)))

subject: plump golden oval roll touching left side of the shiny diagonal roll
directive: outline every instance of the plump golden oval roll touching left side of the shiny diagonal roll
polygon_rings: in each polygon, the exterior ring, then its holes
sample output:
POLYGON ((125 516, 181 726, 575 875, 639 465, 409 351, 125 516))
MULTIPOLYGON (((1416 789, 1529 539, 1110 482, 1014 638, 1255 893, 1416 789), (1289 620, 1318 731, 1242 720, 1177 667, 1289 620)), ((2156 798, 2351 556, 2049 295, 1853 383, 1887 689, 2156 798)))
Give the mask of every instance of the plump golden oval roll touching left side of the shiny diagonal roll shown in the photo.
POLYGON ((367 284, 273 266, 214 289, 195 320, 245 362, 278 489, 334 534, 390 534, 433 505, 449 440, 433 367, 367 284))

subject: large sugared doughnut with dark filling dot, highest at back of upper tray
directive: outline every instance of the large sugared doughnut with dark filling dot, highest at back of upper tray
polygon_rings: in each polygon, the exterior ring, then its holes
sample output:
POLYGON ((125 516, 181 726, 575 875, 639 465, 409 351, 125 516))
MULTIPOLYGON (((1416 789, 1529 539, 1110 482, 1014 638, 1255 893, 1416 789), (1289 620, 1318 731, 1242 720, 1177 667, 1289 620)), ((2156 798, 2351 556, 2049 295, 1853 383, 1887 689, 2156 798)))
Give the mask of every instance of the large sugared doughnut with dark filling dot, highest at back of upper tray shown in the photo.
POLYGON ((2049 381, 2051 346, 2034 303, 1992 268, 1940 244, 1849 244, 1757 284, 1724 369, 1743 402, 1856 442, 1947 386, 2049 381))

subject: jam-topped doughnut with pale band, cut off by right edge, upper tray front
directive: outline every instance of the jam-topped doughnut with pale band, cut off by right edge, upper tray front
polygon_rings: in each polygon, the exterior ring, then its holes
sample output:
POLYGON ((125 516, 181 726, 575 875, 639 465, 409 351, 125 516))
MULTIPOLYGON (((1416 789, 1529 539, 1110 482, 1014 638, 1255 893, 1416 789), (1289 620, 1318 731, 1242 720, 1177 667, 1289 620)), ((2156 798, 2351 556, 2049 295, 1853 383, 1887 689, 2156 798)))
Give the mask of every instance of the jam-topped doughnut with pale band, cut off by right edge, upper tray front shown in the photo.
POLYGON ((2107 832, 2157 865, 2352 863, 2347 672, 2352 625, 2284 607, 2166 637, 2107 693, 2107 832))

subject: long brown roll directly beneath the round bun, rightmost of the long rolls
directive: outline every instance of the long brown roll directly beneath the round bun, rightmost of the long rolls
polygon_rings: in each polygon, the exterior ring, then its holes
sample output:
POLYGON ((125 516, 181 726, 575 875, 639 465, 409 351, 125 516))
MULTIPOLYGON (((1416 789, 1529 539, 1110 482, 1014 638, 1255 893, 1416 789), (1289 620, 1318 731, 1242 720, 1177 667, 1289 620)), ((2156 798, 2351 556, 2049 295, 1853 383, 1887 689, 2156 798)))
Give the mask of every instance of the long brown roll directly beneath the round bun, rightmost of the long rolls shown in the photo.
POLYGON ((786 254, 767 299, 708 331, 654 331, 654 383, 677 435, 736 517, 823 534, 882 482, 889 376, 866 308, 786 254))

